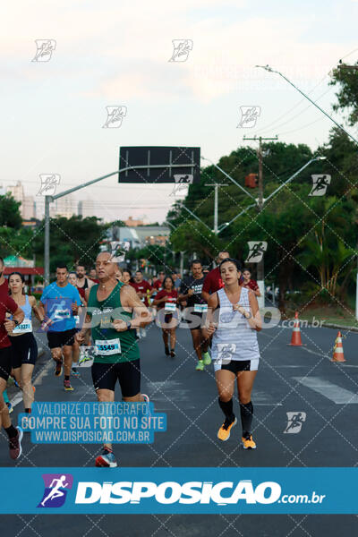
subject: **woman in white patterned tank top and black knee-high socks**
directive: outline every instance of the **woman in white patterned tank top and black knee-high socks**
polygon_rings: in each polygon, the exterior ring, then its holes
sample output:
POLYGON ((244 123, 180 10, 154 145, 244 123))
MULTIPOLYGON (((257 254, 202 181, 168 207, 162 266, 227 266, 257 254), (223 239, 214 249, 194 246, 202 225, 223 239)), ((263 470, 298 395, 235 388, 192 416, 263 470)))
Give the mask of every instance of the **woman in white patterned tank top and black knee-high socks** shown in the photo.
POLYGON ((209 297, 207 337, 212 336, 211 358, 217 380, 218 404, 225 421, 217 438, 226 441, 237 423, 233 412, 236 380, 243 426, 243 448, 255 449, 251 435, 253 406, 251 390, 259 367, 260 350, 256 333, 262 328, 259 305, 251 289, 239 285, 241 265, 226 258, 219 265, 225 284, 209 297))

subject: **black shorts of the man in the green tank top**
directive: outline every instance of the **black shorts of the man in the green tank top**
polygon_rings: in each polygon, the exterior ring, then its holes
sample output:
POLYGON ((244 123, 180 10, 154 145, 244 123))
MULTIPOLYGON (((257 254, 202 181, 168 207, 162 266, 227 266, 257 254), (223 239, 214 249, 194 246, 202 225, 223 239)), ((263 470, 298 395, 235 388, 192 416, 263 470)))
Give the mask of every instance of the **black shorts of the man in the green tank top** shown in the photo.
POLYGON ((92 365, 92 380, 96 390, 111 389, 115 391, 118 380, 123 397, 133 397, 141 391, 141 361, 121 363, 94 363, 92 365))

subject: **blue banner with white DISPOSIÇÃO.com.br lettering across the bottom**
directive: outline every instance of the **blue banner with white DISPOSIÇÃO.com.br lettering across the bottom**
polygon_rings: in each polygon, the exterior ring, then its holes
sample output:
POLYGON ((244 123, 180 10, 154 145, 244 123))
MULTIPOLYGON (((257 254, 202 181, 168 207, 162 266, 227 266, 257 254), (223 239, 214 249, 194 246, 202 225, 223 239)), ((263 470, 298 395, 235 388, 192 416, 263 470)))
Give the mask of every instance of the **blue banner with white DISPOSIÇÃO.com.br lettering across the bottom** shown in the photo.
POLYGON ((358 514, 358 468, 0 468, 1 514, 358 514))

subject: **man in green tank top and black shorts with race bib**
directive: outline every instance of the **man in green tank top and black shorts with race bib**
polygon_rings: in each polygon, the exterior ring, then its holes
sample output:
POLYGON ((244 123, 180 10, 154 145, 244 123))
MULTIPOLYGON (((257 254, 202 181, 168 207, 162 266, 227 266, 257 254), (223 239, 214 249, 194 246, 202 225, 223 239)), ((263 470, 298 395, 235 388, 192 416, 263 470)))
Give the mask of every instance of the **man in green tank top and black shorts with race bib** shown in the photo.
MULTIPOLYGON (((115 278, 117 266, 111 253, 98 254, 96 271, 99 284, 85 291, 85 324, 91 322, 92 328, 84 326, 77 339, 82 343, 86 332, 91 330, 96 349, 91 370, 98 402, 115 401, 117 380, 124 401, 149 401, 148 396, 141 394, 141 362, 135 328, 148 325, 152 316, 135 290, 115 278)), ((112 445, 106 443, 96 458, 96 466, 114 468, 116 465, 112 445)))

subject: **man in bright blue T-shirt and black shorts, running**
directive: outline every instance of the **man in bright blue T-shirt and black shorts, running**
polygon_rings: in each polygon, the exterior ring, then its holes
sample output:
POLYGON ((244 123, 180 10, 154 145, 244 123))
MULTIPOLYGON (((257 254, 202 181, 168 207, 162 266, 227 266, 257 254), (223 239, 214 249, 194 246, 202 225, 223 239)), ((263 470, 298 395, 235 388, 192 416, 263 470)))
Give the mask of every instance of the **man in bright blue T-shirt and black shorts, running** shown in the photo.
POLYGON ((74 315, 77 314, 80 304, 78 290, 68 283, 67 267, 59 265, 56 268, 56 281, 45 287, 38 305, 44 318, 42 328, 47 329, 48 346, 56 363, 56 377, 61 376, 64 354, 65 391, 73 391, 70 375, 72 345, 76 333, 74 315))

